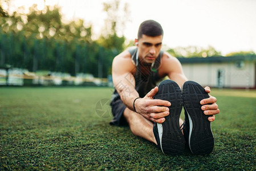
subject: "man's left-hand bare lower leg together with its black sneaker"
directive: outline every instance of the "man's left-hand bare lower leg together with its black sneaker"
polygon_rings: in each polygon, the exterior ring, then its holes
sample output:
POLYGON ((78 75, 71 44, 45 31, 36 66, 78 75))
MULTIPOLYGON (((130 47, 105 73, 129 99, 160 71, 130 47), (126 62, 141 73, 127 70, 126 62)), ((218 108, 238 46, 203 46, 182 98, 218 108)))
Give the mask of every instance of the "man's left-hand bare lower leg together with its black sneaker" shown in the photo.
POLYGON ((185 149, 185 139, 180 129, 183 105, 181 89, 172 80, 164 80, 159 84, 159 91, 154 99, 168 100, 172 104, 164 123, 153 124, 129 109, 124 110, 124 117, 136 136, 157 144, 164 154, 181 154, 185 149))

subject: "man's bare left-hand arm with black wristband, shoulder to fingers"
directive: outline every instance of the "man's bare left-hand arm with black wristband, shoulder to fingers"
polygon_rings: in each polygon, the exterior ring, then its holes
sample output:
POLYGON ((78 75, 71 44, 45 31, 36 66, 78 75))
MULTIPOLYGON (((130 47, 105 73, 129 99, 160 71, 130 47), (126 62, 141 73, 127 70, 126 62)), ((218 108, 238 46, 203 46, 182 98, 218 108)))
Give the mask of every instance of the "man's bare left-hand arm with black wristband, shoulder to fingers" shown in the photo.
MULTIPOLYGON (((135 89, 135 78, 133 74, 136 67, 132 63, 131 55, 128 51, 124 51, 113 59, 112 78, 113 84, 119 93, 121 100, 127 108, 133 109, 133 101, 139 97, 139 93, 135 89)), ((162 123, 164 117, 169 115, 169 101, 153 99, 158 88, 153 88, 145 97, 136 100, 136 112, 144 116, 146 119, 162 123)))

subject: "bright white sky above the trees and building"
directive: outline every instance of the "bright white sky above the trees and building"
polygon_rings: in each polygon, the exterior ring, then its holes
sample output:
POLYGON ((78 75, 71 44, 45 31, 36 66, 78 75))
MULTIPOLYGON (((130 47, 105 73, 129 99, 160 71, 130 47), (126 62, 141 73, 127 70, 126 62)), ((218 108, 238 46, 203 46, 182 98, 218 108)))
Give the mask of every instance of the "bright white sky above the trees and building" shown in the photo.
MULTIPOLYGON (((66 19, 91 22, 97 34, 104 27, 103 2, 112 0, 46 0, 58 4, 66 19)), ((234 51, 256 52, 255 0, 120 0, 131 11, 123 34, 135 39, 141 22, 154 19, 164 29, 163 43, 168 47, 213 46, 222 55, 234 51)), ((43 0, 16 0, 15 6, 31 6, 43 0)))

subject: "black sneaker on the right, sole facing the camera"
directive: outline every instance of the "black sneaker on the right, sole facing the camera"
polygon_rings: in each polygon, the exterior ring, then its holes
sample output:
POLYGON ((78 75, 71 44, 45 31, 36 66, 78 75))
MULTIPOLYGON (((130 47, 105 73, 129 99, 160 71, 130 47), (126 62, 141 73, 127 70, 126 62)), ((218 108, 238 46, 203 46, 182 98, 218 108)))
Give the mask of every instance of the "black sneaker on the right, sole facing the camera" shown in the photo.
POLYGON ((209 98, 200 84, 192 81, 182 86, 185 110, 185 125, 183 129, 186 143, 193 154, 209 154, 214 147, 213 133, 208 117, 202 111, 200 101, 209 98))

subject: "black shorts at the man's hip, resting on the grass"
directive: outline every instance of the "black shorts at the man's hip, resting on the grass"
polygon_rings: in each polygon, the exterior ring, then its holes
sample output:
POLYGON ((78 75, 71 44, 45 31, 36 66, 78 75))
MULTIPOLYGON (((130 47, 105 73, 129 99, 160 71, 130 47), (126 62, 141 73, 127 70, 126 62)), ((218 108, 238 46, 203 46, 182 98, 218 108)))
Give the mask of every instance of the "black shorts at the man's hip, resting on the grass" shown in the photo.
POLYGON ((113 120, 110 124, 116 126, 127 126, 128 123, 124 117, 124 109, 127 107, 118 94, 113 95, 110 105, 113 115, 113 120))

